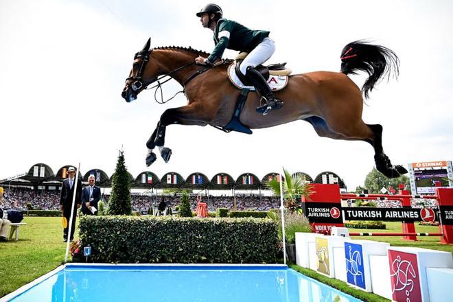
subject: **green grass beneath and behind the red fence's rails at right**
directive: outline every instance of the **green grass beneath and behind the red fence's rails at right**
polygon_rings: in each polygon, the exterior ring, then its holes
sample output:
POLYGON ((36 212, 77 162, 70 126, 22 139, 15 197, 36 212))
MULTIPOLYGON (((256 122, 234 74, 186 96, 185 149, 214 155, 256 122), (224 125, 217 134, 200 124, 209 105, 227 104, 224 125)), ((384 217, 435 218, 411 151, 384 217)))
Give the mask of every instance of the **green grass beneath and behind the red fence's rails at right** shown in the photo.
MULTIPOLYGON (((402 233, 401 222, 384 222, 385 230, 377 229, 348 229, 349 232, 358 233, 402 233)), ((418 222, 414 223, 415 233, 440 233, 439 227, 421 226, 418 222)), ((353 236, 353 239, 358 240, 373 240, 380 242, 388 242, 391 246, 413 246, 417 248, 430 248, 437 251, 446 251, 453 253, 453 244, 441 244, 439 236, 417 237, 419 241, 403 240, 403 237, 379 237, 379 236, 353 236)))

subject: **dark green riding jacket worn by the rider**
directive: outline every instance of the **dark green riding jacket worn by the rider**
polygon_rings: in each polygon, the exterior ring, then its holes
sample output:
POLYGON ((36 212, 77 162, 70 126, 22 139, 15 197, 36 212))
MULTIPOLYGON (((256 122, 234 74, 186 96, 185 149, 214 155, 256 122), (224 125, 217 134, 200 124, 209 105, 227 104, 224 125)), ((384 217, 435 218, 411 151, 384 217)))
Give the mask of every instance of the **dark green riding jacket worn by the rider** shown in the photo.
POLYGON ((268 36, 269 32, 264 30, 249 30, 235 21, 219 19, 213 36, 216 47, 208 60, 213 63, 218 58, 222 58, 222 54, 227 48, 250 52, 268 36))

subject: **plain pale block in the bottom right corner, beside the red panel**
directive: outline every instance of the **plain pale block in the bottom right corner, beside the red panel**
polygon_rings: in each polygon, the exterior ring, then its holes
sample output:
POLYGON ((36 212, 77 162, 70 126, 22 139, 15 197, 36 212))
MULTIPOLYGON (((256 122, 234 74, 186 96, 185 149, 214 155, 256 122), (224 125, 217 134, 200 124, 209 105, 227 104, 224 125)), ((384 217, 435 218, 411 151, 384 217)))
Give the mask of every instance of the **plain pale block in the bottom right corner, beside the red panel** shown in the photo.
POLYGON ((452 268, 426 268, 426 278, 430 290, 430 301, 445 301, 453 285, 452 268))

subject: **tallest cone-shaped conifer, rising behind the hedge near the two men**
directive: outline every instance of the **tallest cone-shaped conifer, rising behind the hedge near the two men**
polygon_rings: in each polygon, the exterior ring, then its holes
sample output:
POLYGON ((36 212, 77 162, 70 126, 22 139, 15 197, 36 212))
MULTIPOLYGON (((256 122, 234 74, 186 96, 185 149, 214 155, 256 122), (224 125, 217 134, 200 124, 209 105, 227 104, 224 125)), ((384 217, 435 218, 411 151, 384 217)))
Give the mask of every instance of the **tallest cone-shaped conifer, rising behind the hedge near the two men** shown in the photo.
POLYGON ((117 167, 112 177, 112 192, 108 200, 109 215, 131 215, 130 179, 124 164, 124 152, 119 151, 117 167))

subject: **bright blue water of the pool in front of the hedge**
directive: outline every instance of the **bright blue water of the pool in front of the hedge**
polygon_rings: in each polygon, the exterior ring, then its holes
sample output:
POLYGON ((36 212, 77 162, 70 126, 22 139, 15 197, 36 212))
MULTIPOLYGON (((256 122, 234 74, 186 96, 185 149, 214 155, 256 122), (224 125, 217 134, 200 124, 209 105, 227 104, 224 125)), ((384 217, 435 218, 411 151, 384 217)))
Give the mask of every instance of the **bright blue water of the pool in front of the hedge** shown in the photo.
POLYGON ((281 266, 67 266, 11 301, 360 300, 281 266))

